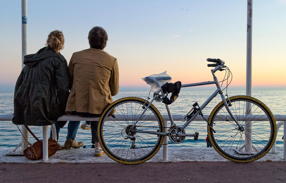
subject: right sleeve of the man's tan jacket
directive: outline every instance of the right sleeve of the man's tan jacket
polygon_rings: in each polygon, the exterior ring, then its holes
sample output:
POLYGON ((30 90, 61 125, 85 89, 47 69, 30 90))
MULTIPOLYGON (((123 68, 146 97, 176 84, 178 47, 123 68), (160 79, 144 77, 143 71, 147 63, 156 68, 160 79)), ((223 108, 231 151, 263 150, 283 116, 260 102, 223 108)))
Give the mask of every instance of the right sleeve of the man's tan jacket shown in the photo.
POLYGON ((110 79, 109 79, 109 87, 111 91, 111 96, 115 96, 118 94, 119 89, 119 70, 117 59, 114 60, 113 68, 111 70, 110 79))

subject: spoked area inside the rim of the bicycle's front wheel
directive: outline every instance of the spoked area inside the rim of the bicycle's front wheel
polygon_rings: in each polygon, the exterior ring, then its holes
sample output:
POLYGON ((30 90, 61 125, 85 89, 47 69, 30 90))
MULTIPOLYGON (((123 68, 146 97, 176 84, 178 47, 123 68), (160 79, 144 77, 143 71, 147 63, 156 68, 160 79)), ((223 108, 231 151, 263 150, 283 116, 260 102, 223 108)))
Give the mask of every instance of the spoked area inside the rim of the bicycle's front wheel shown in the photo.
POLYGON ((233 100, 231 112, 244 131, 239 131, 229 113, 222 105, 213 117, 214 141, 226 154, 247 158, 260 153, 266 147, 272 135, 270 117, 255 102, 233 100))

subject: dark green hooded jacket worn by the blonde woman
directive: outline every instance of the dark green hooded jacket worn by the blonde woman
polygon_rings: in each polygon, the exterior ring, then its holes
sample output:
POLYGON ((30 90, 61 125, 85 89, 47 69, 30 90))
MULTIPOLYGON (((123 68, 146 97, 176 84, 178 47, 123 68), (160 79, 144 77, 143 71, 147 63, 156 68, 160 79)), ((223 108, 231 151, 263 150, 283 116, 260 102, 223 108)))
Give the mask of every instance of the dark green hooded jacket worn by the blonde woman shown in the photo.
POLYGON ((45 126, 64 114, 68 100, 68 65, 51 47, 24 56, 25 67, 14 93, 14 124, 45 126))

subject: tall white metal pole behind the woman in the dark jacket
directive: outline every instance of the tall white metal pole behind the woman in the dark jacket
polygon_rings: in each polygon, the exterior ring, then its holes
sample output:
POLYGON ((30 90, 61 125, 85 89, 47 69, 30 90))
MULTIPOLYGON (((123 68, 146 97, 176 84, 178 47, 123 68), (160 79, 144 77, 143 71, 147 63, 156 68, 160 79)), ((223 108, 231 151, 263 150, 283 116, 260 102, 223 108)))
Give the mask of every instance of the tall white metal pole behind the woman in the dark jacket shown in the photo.
MULTIPOLYGON (((24 68, 24 56, 27 55, 27 0, 22 0, 22 69, 24 68)), ((22 133, 26 137, 26 139, 29 141, 29 133, 28 130, 25 128, 24 125, 22 125, 22 133)), ((28 146, 27 141, 22 136, 22 149, 21 153, 24 149, 26 149, 28 146)))

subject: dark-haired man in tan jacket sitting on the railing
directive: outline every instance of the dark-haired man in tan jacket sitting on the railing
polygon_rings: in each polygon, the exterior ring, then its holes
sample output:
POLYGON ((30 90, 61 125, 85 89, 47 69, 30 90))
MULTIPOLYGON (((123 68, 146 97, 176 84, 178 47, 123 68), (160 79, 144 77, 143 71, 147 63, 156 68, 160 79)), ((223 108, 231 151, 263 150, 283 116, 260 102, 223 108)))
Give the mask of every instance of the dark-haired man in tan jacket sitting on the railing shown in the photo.
MULTIPOLYGON (((118 93, 119 71, 117 59, 103 51, 108 36, 102 27, 93 27, 88 34, 90 48, 73 53, 68 65, 70 95, 66 111, 81 117, 99 117, 103 110, 113 102, 112 96, 118 93)), ((80 121, 73 121, 79 127, 80 121)), ((81 128, 92 132, 95 156, 103 150, 97 137, 98 121, 87 121, 81 128)), ((75 132, 76 134, 76 132, 75 132)), ((66 139, 65 148, 73 147, 73 141, 66 139)))

